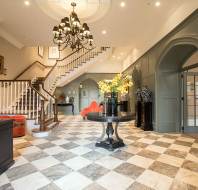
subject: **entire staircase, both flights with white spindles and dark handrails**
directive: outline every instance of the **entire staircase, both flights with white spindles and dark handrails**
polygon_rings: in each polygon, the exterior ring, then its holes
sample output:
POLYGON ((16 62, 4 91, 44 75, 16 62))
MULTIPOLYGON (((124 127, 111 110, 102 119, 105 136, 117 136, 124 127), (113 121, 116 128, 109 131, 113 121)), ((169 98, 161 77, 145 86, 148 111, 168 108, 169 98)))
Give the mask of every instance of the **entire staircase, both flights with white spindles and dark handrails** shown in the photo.
MULTIPOLYGON (((108 56, 111 48, 80 49, 57 60, 46 77, 32 80, 0 80, 0 114, 26 115, 45 131, 52 121, 57 122, 57 100, 54 91, 85 72, 89 65, 108 56)), ((25 71, 27 71, 26 69, 25 71)), ((21 76, 22 74, 20 74, 21 76)))

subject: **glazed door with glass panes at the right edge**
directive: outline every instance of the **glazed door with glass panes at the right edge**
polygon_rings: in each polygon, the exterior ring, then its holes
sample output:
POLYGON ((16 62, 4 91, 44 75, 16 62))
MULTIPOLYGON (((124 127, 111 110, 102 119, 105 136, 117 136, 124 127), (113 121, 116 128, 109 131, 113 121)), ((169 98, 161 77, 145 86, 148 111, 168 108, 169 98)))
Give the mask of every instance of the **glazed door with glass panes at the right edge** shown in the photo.
POLYGON ((183 130, 198 132, 198 73, 185 72, 183 75, 183 130))

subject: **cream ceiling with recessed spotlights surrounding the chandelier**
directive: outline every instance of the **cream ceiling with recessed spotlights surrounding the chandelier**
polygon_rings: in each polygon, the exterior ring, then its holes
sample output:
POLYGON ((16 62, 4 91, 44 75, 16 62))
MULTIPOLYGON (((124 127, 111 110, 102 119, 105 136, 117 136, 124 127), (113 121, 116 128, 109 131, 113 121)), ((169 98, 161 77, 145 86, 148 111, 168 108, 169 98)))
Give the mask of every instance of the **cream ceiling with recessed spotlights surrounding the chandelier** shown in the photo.
MULTIPOLYGON (((59 21, 53 17, 52 9, 46 12, 48 9, 45 7, 44 10, 38 1, 44 4, 49 1, 52 4, 57 0, 29 0, 29 6, 24 5, 24 0, 1 0, 0 35, 21 46, 52 44, 51 31, 59 21)), ((78 1, 97 3, 97 0, 78 1)), ((87 20, 90 21, 88 24, 96 45, 130 47, 142 54, 198 8, 198 0, 160 0, 159 7, 155 6, 156 1, 111 0, 107 11, 94 20, 90 20, 90 17, 100 14, 100 11, 98 12, 97 6, 95 12, 93 6, 87 6, 87 20), (126 6, 121 7, 121 1, 126 6), (102 34, 103 30, 106 34, 102 34)), ((85 6, 83 3, 81 5, 85 6)), ((56 9, 55 12, 58 13, 58 7, 56 9)), ((81 12, 84 14, 86 11, 81 12)), ((86 21, 86 16, 84 19, 86 21)))

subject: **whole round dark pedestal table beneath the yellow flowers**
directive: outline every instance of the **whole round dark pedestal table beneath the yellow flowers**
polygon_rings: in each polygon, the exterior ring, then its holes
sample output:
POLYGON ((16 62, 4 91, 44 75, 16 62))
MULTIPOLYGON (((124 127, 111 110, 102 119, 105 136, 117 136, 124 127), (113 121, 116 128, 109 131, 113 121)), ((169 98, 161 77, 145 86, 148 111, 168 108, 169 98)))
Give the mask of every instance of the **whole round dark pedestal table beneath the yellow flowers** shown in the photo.
POLYGON ((89 113, 87 115, 87 119, 90 121, 101 122, 103 125, 103 132, 101 137, 97 140, 96 146, 108 150, 114 150, 125 146, 122 138, 118 134, 119 123, 133 120, 134 115, 132 113, 118 113, 117 116, 106 116, 102 113, 89 113), (105 133, 107 135, 106 139, 105 133))

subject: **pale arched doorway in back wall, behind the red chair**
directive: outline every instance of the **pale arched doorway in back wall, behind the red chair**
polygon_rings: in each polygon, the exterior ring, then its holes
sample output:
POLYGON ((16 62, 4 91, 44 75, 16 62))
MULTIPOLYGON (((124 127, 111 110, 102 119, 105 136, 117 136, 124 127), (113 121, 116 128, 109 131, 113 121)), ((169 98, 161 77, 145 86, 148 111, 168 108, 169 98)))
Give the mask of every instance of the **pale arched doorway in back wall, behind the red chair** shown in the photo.
POLYGON ((79 108, 80 111, 89 106, 92 101, 99 101, 98 84, 92 79, 81 82, 79 87, 79 108))

